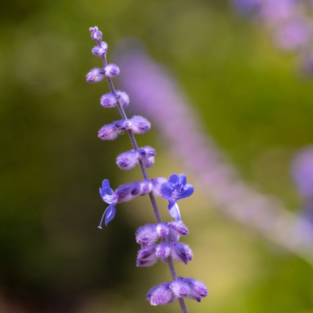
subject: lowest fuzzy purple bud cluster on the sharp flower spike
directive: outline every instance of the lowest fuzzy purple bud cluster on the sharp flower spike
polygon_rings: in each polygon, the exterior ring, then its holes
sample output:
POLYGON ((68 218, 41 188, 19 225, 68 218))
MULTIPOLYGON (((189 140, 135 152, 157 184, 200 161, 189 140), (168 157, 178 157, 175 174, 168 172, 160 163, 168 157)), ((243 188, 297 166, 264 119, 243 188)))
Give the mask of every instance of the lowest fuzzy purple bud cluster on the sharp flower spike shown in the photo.
POLYGON ((177 280, 151 288, 146 299, 151 305, 165 305, 174 302, 177 298, 190 298, 200 302, 207 295, 207 287, 202 281, 191 277, 178 277, 177 280))

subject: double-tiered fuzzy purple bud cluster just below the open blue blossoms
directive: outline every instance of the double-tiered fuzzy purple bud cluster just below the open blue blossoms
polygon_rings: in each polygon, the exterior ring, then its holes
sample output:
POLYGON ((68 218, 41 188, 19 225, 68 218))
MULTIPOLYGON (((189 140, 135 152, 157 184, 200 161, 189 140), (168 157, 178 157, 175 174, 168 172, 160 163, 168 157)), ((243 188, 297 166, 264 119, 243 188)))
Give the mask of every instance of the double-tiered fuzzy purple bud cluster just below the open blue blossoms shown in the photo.
POLYGON ((141 245, 137 266, 151 266, 158 258, 167 263, 169 256, 188 264, 192 260, 192 250, 187 244, 178 242, 180 236, 187 234, 188 229, 181 221, 141 226, 136 232, 136 242, 141 245), (165 241, 156 244, 158 239, 165 241))

